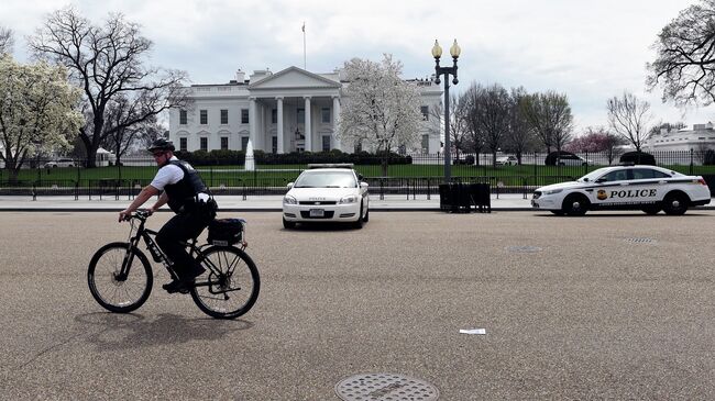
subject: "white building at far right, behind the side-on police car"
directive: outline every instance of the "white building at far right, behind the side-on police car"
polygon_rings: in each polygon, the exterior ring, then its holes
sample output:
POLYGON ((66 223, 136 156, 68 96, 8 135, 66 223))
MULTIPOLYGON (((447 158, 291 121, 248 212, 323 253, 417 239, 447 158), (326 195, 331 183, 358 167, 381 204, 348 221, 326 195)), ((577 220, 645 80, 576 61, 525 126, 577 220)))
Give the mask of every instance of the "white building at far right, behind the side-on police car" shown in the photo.
POLYGON ((645 152, 690 151, 704 152, 715 149, 715 130, 713 123, 694 124, 692 130, 667 130, 651 135, 642 146, 645 152))

